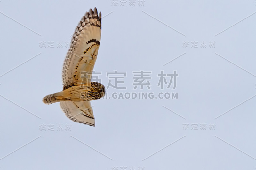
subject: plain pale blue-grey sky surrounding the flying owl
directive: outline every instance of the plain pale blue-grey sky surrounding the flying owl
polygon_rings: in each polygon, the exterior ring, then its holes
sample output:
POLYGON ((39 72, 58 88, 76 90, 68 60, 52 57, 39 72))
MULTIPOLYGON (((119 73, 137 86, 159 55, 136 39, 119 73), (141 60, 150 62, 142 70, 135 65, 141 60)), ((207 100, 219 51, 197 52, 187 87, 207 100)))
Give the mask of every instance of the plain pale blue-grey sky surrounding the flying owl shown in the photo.
POLYGON ((121 3, 1 0, 1 169, 255 169, 255 0, 121 3), (127 89, 109 87, 108 95, 178 99, 94 100, 95 127, 42 102, 62 90, 65 42, 94 7, 104 17, 94 70, 105 86, 107 72, 127 73, 127 89), (150 89, 134 90, 132 72, 141 70, 152 72, 150 89), (175 89, 157 87, 161 70, 177 71, 175 89))

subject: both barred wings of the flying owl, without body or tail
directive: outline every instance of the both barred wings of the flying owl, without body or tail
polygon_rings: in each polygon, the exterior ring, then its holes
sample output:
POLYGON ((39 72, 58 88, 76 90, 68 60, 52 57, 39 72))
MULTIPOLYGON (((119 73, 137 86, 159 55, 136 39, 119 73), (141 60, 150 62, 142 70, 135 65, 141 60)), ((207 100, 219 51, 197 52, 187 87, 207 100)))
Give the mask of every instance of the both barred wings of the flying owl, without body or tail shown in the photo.
MULTIPOLYGON (((86 12, 76 27, 70 48, 63 64, 62 78, 63 90, 74 86, 91 83, 91 74, 81 78, 81 74, 93 71, 98 55, 101 36, 101 12, 94 8, 86 12)), ((90 101, 60 102, 65 115, 75 121, 90 126, 95 126, 93 111, 90 101)))

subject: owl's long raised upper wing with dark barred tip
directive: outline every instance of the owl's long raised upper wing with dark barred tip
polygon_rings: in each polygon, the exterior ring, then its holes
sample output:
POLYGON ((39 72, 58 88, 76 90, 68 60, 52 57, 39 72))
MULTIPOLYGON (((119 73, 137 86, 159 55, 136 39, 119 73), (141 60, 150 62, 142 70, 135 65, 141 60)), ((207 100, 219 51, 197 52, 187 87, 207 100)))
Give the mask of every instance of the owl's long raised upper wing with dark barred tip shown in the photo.
POLYGON ((98 55, 101 36, 101 12, 86 12, 76 27, 62 69, 63 90, 91 82, 91 72, 98 55), (85 71, 88 74, 84 73, 85 71), (84 77, 81 78, 81 74, 84 77))

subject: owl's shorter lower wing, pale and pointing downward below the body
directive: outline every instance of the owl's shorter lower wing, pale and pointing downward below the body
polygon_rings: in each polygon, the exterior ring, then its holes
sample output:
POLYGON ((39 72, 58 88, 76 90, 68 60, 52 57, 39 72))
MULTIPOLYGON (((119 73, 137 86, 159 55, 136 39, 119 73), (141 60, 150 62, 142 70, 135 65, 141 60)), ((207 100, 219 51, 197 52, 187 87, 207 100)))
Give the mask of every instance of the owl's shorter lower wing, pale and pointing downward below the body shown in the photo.
POLYGON ((74 122, 95 126, 92 106, 90 101, 61 101, 60 107, 65 115, 74 122))

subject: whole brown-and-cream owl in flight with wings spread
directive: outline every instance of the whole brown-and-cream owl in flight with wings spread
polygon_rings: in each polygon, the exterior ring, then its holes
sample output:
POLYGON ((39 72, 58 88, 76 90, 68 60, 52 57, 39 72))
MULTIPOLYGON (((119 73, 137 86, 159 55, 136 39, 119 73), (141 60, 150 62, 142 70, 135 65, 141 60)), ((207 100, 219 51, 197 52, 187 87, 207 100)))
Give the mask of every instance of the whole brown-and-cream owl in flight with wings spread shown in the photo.
POLYGON ((71 39, 63 68, 63 90, 43 98, 45 104, 60 102, 65 115, 72 121, 95 126, 90 100, 105 95, 101 83, 91 82, 101 35, 101 12, 86 12, 71 39))

